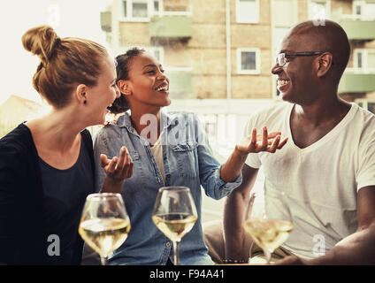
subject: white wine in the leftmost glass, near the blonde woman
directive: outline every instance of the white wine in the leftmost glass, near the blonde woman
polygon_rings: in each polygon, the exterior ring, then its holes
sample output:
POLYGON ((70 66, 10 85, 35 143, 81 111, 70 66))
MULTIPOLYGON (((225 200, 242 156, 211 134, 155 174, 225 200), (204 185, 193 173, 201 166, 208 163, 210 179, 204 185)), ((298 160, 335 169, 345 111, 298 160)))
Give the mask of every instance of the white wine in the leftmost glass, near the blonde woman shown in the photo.
POLYGON ((80 223, 80 236, 100 256, 109 256, 126 241, 130 222, 123 218, 96 218, 80 223))

